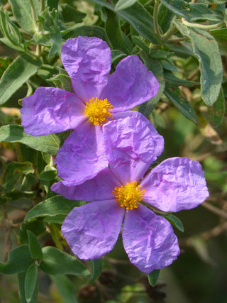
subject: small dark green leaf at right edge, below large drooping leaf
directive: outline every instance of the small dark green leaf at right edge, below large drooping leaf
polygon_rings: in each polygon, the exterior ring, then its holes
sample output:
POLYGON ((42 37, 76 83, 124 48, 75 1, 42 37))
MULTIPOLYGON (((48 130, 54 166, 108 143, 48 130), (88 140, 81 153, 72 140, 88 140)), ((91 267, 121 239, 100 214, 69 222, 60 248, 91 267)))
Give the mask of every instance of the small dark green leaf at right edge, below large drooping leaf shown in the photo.
POLYGON ((217 127, 221 123, 225 111, 226 111, 226 102, 223 94, 223 89, 221 89, 218 99, 213 105, 212 114, 209 117, 209 121, 212 126, 217 127))

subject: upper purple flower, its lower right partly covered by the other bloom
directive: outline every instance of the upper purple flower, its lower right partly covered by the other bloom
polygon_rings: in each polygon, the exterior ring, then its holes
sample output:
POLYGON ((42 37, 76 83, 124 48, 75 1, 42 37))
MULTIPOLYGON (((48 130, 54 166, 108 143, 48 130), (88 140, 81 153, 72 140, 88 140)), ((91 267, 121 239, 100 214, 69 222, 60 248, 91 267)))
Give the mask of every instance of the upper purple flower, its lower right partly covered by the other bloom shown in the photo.
POLYGON ((159 83, 139 57, 131 55, 111 70, 111 50, 96 37, 78 37, 62 46, 62 63, 74 92, 39 87, 23 99, 26 133, 44 136, 74 129, 57 153, 58 175, 81 184, 108 167, 102 125, 157 94, 159 83))

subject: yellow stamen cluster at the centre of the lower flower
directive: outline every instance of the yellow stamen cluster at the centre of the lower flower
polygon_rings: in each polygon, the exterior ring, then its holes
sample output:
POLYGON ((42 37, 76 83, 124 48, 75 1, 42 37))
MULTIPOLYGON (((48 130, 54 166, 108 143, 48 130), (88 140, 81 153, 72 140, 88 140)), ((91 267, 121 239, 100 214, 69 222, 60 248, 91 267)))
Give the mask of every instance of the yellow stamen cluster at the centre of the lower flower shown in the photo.
POLYGON ((137 185, 137 182, 133 181, 127 183, 125 186, 115 187, 113 194, 120 206, 126 207, 128 212, 129 209, 137 209, 145 192, 145 189, 142 189, 141 185, 137 185))

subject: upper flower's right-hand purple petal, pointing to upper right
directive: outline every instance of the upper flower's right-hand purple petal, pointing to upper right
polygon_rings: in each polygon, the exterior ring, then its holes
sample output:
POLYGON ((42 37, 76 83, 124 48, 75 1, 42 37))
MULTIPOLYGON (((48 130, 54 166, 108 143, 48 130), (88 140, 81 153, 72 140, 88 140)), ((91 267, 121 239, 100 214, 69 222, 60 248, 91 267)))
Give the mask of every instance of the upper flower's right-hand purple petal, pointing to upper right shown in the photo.
POLYGON ((114 106, 113 112, 126 111, 135 105, 155 97, 159 83, 138 56, 121 60, 116 71, 109 77, 102 99, 107 98, 114 106))

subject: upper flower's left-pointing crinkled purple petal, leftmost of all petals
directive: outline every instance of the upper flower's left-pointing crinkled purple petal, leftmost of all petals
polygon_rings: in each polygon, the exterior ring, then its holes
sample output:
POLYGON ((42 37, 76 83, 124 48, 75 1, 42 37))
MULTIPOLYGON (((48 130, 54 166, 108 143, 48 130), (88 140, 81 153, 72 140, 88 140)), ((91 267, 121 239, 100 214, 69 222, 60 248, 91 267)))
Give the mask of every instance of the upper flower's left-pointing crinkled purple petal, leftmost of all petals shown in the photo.
POLYGON ((24 131, 33 136, 45 136, 76 128, 87 116, 85 106, 75 94, 55 87, 39 87, 23 99, 21 109, 24 131))

